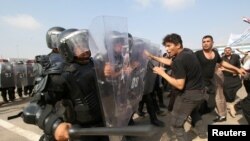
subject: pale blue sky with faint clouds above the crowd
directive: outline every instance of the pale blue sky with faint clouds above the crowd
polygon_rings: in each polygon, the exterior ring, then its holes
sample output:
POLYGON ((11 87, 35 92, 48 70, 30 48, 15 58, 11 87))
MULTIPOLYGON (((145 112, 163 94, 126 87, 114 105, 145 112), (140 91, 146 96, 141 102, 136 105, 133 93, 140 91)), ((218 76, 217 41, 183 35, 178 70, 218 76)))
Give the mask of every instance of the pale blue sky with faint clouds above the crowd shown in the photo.
POLYGON ((191 49, 201 49, 207 34, 226 45, 231 33, 250 26, 242 21, 250 17, 249 6, 249 0, 1 0, 0 58, 48 54, 49 28, 87 29, 97 16, 125 17, 133 36, 159 45, 171 33, 191 49))

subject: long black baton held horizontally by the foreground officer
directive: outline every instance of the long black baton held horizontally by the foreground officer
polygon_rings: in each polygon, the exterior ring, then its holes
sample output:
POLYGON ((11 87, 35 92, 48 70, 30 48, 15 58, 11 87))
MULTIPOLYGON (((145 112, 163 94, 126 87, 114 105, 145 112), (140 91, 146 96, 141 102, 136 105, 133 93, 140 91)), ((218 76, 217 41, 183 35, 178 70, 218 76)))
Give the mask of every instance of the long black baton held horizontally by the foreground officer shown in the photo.
POLYGON ((152 125, 138 125, 126 127, 93 127, 93 128, 76 128, 69 129, 70 137, 79 136, 152 136, 157 130, 152 125))

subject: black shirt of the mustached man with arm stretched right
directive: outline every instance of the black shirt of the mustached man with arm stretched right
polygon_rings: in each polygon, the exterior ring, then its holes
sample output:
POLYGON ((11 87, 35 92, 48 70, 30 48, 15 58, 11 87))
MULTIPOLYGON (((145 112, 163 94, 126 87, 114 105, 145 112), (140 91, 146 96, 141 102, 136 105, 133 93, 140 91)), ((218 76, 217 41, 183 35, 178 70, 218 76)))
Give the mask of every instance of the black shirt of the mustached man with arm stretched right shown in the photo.
POLYGON ((200 62, 201 69, 202 69, 202 76, 205 79, 213 78, 215 72, 216 63, 221 63, 222 59, 219 53, 215 50, 214 51, 214 58, 207 59, 203 53, 203 50, 196 51, 195 54, 200 62))

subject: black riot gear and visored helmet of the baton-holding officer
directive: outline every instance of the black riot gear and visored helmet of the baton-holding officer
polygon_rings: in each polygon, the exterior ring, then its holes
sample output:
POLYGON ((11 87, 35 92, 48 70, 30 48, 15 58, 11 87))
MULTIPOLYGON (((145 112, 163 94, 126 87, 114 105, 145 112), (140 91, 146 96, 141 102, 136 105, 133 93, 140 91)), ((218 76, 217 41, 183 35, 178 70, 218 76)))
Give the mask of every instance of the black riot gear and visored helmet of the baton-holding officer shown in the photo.
MULTIPOLYGON (((54 140, 54 132, 62 122, 89 128, 103 126, 98 99, 96 75, 88 49, 86 30, 68 29, 59 37, 59 51, 66 64, 57 62, 45 71, 47 75, 35 87, 35 97, 23 111, 23 120, 36 124, 46 133, 41 140, 54 140), (63 100, 64 114, 55 103, 63 100)), ((74 140, 74 139, 73 139, 74 140)), ((80 137, 77 141, 108 140, 102 136, 80 137)))

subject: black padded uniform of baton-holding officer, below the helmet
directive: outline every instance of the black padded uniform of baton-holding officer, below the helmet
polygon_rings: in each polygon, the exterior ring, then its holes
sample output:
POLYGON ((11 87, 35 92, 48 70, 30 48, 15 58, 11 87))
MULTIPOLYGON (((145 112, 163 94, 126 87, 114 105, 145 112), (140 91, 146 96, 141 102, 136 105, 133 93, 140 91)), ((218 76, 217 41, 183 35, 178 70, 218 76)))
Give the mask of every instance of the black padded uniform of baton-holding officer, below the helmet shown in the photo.
POLYGON ((48 75, 36 85, 34 97, 23 111, 24 122, 38 125, 46 138, 53 138, 52 133, 63 121, 83 127, 103 126, 93 62, 58 64, 46 70, 48 75), (63 111, 57 104, 60 100, 63 111))

